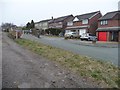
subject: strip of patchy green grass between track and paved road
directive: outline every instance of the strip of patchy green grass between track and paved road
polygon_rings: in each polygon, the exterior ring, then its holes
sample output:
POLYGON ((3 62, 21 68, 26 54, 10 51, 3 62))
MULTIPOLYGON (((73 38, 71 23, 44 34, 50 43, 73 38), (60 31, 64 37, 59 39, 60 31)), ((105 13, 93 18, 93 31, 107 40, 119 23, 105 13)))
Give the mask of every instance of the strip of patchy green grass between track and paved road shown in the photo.
POLYGON ((63 65, 80 76, 103 83, 105 87, 117 88, 120 83, 120 78, 118 78, 120 69, 111 63, 26 39, 17 39, 16 42, 49 60, 63 65))

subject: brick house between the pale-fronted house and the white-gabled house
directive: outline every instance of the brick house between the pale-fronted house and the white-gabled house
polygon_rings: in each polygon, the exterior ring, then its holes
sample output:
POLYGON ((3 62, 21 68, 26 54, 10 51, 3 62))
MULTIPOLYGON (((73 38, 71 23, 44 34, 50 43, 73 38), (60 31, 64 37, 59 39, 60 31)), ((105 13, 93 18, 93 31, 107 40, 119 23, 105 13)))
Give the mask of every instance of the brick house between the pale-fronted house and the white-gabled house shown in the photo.
POLYGON ((52 20, 49 22, 49 28, 57 28, 57 29, 65 29, 67 26, 67 22, 69 22, 71 19, 73 19, 73 15, 67 15, 63 17, 58 18, 52 18, 52 20))

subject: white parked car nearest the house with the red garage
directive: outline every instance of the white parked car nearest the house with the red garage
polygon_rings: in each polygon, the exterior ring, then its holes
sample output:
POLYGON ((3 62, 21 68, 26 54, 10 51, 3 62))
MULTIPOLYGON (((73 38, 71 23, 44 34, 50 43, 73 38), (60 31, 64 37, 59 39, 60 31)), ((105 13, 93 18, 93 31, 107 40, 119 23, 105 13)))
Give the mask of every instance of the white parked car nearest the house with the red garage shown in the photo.
POLYGON ((84 33, 80 37, 81 40, 87 40, 87 41, 97 41, 97 37, 91 33, 84 33))

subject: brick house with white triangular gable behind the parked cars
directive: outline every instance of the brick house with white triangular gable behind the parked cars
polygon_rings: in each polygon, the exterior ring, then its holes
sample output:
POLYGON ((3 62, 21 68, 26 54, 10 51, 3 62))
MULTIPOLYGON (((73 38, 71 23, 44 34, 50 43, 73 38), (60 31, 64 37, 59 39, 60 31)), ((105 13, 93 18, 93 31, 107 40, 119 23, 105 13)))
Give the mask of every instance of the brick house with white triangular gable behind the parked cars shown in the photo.
POLYGON ((83 33, 96 34, 96 29, 98 27, 98 19, 101 17, 101 12, 91 12, 82 15, 77 15, 73 20, 67 23, 65 32, 76 32, 78 35, 83 33))

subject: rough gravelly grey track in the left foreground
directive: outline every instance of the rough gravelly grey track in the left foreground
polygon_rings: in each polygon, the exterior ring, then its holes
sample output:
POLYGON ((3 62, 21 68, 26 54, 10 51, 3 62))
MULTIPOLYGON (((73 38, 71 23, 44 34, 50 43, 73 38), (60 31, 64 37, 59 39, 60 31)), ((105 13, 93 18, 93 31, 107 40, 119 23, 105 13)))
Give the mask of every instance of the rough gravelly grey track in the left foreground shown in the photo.
POLYGON ((80 77, 57 63, 19 46, 6 34, 2 39, 3 88, 84 88, 100 83, 80 77))

